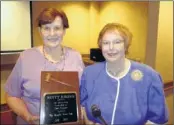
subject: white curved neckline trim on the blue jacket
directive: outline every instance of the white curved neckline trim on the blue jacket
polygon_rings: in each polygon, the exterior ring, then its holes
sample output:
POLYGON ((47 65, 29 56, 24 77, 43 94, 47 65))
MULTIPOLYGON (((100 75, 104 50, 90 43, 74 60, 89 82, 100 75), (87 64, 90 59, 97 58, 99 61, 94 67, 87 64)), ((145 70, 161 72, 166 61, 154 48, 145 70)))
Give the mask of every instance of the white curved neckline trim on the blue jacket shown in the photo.
POLYGON ((127 71, 126 71, 123 75, 121 75, 121 76, 119 76, 119 77, 114 77, 113 75, 111 75, 111 74, 108 72, 108 70, 107 70, 107 62, 105 62, 105 71, 106 71, 107 75, 108 75, 109 77, 113 78, 113 79, 116 79, 116 80, 122 79, 122 78, 124 78, 125 76, 127 76, 127 74, 130 72, 130 69, 131 69, 131 66, 132 66, 132 62, 128 59, 128 63, 129 63, 129 67, 127 68, 127 71))

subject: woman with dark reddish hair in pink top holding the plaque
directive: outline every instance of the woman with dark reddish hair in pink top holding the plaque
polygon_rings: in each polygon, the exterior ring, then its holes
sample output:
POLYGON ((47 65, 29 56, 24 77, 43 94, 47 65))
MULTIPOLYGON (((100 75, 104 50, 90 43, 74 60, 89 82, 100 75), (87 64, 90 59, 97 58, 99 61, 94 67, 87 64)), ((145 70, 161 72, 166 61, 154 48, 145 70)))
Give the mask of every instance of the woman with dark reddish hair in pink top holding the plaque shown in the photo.
POLYGON ((84 68, 80 53, 61 45, 69 28, 63 11, 44 9, 38 27, 43 46, 20 54, 5 86, 7 104, 18 115, 17 124, 39 121, 41 71, 77 71, 80 78, 84 68))

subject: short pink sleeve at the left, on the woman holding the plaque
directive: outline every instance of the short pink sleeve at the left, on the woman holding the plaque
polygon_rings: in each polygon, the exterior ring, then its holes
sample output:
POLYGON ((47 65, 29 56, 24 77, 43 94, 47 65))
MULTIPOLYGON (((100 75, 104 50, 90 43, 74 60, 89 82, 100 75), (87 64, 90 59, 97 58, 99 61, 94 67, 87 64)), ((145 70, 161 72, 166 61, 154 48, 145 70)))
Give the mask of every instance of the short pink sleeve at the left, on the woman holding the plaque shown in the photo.
POLYGON ((19 56, 11 74, 9 75, 6 84, 5 84, 5 91, 14 97, 21 97, 22 95, 22 69, 21 69, 21 56, 19 56))

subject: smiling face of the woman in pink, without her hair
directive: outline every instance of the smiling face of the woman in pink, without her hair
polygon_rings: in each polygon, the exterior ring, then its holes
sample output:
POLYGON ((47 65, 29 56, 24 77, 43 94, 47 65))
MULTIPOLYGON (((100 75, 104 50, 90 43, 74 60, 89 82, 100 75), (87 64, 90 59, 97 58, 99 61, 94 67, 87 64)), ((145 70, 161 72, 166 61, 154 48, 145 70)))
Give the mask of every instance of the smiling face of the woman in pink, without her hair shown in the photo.
POLYGON ((40 33, 45 46, 57 47, 61 44, 65 34, 62 19, 57 16, 52 23, 42 25, 40 33))

